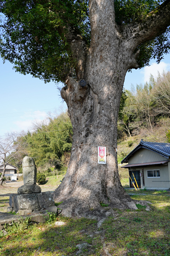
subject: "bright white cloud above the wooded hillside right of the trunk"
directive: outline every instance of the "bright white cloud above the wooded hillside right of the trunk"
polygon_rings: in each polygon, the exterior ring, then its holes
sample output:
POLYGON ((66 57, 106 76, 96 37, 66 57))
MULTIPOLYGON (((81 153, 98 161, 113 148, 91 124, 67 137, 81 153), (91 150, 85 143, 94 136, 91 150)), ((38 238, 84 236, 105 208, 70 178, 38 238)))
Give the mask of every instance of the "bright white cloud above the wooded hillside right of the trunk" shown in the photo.
POLYGON ((156 78, 158 71, 160 74, 162 74, 163 70, 166 72, 169 69, 170 69, 170 63, 165 63, 161 61, 159 64, 157 64, 156 62, 154 62, 150 66, 146 66, 145 68, 143 68, 143 70, 141 71, 141 73, 144 74, 143 81, 149 82, 150 74, 152 74, 154 78, 156 78))

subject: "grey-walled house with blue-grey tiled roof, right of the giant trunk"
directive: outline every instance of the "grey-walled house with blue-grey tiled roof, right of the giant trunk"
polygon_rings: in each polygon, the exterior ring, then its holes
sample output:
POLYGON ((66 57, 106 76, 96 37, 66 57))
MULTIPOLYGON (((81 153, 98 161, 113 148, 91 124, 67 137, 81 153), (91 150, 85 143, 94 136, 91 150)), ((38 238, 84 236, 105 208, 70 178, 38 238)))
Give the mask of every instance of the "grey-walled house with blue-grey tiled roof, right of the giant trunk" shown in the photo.
MULTIPOLYGON (((166 190, 170 188, 170 143, 141 140, 122 162, 128 163, 129 175, 139 188, 166 190)), ((129 178, 130 187, 134 187, 129 178)), ((135 185, 136 186, 136 185, 135 185)))

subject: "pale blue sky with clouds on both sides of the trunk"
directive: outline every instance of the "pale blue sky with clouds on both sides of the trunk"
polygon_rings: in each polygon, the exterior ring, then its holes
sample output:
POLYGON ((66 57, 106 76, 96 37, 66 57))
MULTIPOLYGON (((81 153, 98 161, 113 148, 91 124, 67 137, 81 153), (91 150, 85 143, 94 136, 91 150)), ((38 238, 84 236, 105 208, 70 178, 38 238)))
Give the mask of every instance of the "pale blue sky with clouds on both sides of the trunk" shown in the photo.
MULTIPOLYGON (((150 67, 133 69, 127 73, 124 87, 130 89, 131 84, 145 83, 150 73, 157 75, 157 70, 170 70, 170 54, 164 56, 159 65, 151 60, 150 67)), ((62 103, 55 83, 44 83, 31 75, 21 75, 12 69, 10 62, 3 64, 0 59, 0 136, 10 131, 27 131, 36 119, 45 119, 48 112, 60 113, 67 109, 62 103)))

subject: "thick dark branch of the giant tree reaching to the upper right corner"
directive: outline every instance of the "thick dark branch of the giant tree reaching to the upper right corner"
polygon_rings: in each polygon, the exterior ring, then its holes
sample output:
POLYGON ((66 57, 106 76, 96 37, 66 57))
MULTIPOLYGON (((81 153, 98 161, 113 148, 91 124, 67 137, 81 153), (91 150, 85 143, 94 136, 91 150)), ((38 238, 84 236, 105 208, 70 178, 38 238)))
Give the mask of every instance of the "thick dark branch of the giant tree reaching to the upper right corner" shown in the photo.
POLYGON ((166 0, 145 19, 140 22, 132 22, 123 31, 124 36, 129 34, 129 41, 133 41, 133 50, 141 43, 154 39, 164 33, 170 26, 170 0, 166 0))

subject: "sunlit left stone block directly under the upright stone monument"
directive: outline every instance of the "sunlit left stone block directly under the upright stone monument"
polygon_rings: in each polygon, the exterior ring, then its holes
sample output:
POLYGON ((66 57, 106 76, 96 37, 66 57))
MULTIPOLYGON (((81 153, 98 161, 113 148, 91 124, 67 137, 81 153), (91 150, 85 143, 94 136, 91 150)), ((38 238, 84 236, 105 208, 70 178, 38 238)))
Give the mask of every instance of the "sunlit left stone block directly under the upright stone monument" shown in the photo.
POLYGON ((39 208, 36 194, 21 194, 14 197, 14 211, 39 208))

